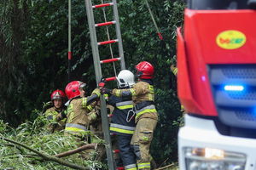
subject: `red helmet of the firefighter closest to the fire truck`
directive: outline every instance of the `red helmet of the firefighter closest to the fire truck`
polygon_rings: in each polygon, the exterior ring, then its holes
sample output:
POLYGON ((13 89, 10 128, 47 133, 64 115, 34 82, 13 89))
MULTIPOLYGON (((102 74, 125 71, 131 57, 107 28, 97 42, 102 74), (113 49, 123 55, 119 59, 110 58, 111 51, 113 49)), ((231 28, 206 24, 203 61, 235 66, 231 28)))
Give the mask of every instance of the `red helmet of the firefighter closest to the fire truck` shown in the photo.
POLYGON ((154 66, 147 61, 142 61, 136 65, 137 77, 142 79, 151 79, 154 75, 154 66))

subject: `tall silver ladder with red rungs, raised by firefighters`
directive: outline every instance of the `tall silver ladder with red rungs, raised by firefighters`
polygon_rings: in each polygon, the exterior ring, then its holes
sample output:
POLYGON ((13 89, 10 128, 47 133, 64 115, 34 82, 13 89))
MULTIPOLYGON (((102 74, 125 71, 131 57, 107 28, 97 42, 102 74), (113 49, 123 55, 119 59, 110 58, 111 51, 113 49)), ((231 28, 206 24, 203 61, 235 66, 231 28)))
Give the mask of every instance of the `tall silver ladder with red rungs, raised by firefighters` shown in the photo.
MULTIPOLYGON (((118 14, 118 8, 117 8, 117 2, 116 0, 112 0, 110 3, 101 3, 93 5, 92 0, 85 0, 85 6, 86 6, 86 13, 87 13, 87 19, 88 19, 88 25, 90 28, 90 42, 91 42, 91 48, 92 48, 92 54, 93 54, 93 61, 94 61, 94 68, 96 73, 96 83, 98 84, 101 81, 102 78, 102 64, 105 63, 111 63, 115 61, 119 61, 120 63, 120 69, 125 70, 125 59, 124 59, 124 51, 123 51, 123 45, 122 45, 122 38, 121 38, 121 32, 119 27, 119 14, 118 14), (95 23, 94 18, 94 10, 97 10, 97 8, 113 8, 113 21, 106 21, 106 17, 104 22, 102 23, 95 23), (103 42, 97 42, 97 35, 96 35, 96 28, 100 26, 115 26, 115 33, 116 38, 115 39, 108 39, 103 42), (117 58, 111 58, 111 59, 100 59, 99 54, 99 46, 103 45, 110 45, 112 43, 118 43, 118 50, 119 50, 119 57, 117 58)), ((109 38, 109 37, 108 37, 109 38)), ((115 77, 108 77, 105 79, 108 81, 115 80, 115 77)), ((106 107, 106 101, 101 96, 101 111, 102 111, 102 127, 103 127, 103 133, 104 133, 104 139, 106 142, 106 151, 107 151, 107 158, 108 158, 108 168, 111 170, 115 170, 115 162, 113 160, 113 150, 112 150, 112 144, 111 144, 111 138, 109 133, 109 122, 108 122, 108 113, 107 113, 107 107, 106 107)))

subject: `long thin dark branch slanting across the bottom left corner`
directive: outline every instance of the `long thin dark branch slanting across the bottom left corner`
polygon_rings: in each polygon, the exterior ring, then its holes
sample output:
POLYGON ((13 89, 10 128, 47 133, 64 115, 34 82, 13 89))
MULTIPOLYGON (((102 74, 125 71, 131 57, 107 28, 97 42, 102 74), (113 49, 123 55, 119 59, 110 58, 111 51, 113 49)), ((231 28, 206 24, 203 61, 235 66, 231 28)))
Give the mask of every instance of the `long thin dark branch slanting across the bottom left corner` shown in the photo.
POLYGON ((21 143, 16 142, 16 141, 14 141, 14 140, 12 140, 12 139, 7 139, 7 138, 4 138, 3 136, 0 136, 0 139, 3 139, 3 140, 5 140, 5 141, 8 141, 8 142, 10 142, 10 143, 12 143, 12 144, 18 144, 18 145, 22 146, 23 148, 26 148, 26 150, 30 150, 30 151, 32 151, 32 152, 38 154, 38 156, 43 157, 45 161, 55 161, 55 162, 57 162, 57 163, 59 163, 59 164, 61 164, 61 165, 64 165, 64 166, 67 166, 67 167, 72 167, 72 168, 74 168, 74 169, 90 170, 89 167, 81 167, 81 166, 79 166, 79 165, 76 165, 76 164, 73 164, 73 163, 70 163, 70 162, 61 160, 61 159, 59 159, 59 158, 57 158, 57 157, 55 157, 55 156, 49 156, 48 154, 41 153, 41 152, 39 152, 38 150, 34 150, 34 149, 30 148, 30 147, 27 146, 26 144, 21 144, 21 143))

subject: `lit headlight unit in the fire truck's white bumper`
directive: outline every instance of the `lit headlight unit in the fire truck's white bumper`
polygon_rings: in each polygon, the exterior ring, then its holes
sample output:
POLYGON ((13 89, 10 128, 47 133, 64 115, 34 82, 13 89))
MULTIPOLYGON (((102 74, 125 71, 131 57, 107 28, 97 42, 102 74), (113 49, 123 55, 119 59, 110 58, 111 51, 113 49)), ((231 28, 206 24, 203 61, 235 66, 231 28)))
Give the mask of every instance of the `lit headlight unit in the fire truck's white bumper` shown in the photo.
POLYGON ((183 149, 187 170, 244 170, 246 156, 212 148, 183 149))

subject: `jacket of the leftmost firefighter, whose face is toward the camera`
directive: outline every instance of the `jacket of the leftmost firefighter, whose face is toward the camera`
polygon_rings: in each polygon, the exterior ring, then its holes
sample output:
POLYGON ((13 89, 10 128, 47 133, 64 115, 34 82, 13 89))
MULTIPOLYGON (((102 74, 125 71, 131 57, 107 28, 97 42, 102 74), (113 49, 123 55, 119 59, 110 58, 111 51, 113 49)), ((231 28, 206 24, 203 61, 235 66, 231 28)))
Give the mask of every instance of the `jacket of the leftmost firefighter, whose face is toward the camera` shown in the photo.
POLYGON ((45 111, 44 115, 49 121, 49 124, 47 125, 49 132, 54 133, 55 131, 61 131, 65 128, 67 121, 65 112, 66 110, 57 110, 55 107, 51 107, 45 111))

